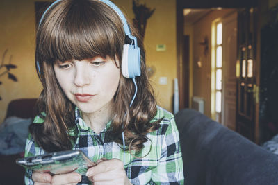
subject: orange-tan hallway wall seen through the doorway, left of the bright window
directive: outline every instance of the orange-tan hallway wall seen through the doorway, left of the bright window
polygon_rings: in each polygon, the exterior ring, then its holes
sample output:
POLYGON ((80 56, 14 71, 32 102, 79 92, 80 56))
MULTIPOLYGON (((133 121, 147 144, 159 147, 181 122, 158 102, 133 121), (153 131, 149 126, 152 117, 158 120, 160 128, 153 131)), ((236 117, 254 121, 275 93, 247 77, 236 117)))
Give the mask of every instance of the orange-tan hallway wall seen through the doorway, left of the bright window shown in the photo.
POLYGON ((212 21, 224 17, 232 9, 213 10, 206 17, 193 24, 193 96, 204 98, 204 114, 211 117, 211 24, 212 21), (204 55, 204 37, 208 37, 208 52, 204 55), (197 61, 202 67, 197 66, 197 61))

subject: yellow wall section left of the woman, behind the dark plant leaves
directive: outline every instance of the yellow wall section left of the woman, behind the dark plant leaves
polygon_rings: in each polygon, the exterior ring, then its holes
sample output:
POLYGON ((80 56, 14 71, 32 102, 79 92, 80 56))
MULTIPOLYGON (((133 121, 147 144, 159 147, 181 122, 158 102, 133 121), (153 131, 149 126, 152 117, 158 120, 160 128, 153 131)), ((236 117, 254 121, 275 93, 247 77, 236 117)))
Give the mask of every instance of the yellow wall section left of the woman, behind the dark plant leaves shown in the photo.
POLYGON ((18 79, 18 82, 13 82, 7 76, 1 76, 3 84, 0 85, 0 121, 6 116, 10 100, 38 97, 41 91, 34 62, 34 12, 33 1, 2 0, 0 3, 0 57, 8 49, 6 62, 12 55, 12 64, 17 65, 17 69, 11 73, 18 79))

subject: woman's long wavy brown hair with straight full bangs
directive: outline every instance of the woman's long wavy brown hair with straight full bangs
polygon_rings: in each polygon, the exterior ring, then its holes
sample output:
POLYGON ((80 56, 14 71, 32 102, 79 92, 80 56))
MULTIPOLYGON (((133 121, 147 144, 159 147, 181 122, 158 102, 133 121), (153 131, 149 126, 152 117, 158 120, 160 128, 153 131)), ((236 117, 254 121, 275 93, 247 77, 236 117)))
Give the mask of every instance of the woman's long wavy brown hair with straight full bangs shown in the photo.
MULTIPOLYGON (((131 32, 140 39, 136 30, 131 32)), ((74 107, 61 89, 54 73, 54 62, 109 56, 122 61, 127 42, 122 21, 105 3, 95 0, 63 0, 44 15, 36 37, 35 61, 43 90, 38 110, 45 112, 44 123, 31 124, 29 130, 38 145, 48 152, 70 150, 68 131, 76 127, 74 107)), ((140 42, 139 42, 140 43, 140 42)), ((129 150, 139 151, 147 141, 146 134, 157 130, 160 121, 150 123, 156 115, 154 92, 147 80, 145 51, 141 50, 141 76, 136 77, 137 96, 130 107, 135 87, 133 81, 120 75, 114 96, 111 129, 113 141, 122 144, 122 132, 129 150)), ((116 62, 115 62, 116 63, 116 62)), ((120 62, 121 63, 121 62, 120 62)), ((117 65, 117 64, 116 64, 117 65)), ((117 66, 121 69, 121 64, 117 66)), ((42 115, 41 115, 42 116, 42 115)))

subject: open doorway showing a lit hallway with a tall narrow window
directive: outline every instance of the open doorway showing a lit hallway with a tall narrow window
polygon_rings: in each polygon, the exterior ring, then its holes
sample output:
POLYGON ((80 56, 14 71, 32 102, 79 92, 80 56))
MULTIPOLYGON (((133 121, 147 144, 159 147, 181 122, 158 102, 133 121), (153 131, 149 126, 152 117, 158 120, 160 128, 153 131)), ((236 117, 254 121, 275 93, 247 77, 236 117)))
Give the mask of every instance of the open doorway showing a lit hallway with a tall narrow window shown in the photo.
POLYGON ((196 97, 204 100, 204 114, 232 130, 236 130, 236 12, 184 9, 184 35, 190 37, 190 105, 196 97))

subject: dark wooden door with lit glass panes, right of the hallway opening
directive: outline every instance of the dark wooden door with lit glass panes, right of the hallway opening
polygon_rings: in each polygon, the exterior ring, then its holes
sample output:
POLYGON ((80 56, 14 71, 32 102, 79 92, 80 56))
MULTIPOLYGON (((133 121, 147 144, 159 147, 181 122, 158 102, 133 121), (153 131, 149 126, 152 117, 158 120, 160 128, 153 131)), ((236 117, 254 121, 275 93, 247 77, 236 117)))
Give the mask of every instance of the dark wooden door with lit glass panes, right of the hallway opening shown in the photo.
POLYGON ((236 131, 255 141, 256 105, 256 10, 238 11, 238 76, 236 131))

